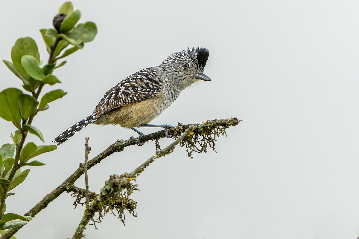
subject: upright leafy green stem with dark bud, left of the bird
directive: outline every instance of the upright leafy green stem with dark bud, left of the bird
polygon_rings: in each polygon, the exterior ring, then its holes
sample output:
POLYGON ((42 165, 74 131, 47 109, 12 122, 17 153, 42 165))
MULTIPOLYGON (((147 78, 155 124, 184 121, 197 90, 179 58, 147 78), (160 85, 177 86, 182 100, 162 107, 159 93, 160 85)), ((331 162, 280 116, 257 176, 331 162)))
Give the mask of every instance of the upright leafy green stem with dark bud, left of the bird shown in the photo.
MULTIPOLYGON (((48 61, 43 65, 40 59, 38 46, 31 37, 21 37, 11 48, 11 61, 3 60, 6 67, 17 76, 25 91, 17 88, 8 88, 0 92, 0 117, 12 122, 17 128, 10 137, 13 144, 3 144, 0 147, 0 233, 5 229, 24 225, 32 219, 29 216, 20 216, 14 213, 4 214, 6 211, 5 199, 15 193, 9 192, 22 183, 29 174, 29 169, 21 170, 24 166, 42 166, 42 162, 30 159, 55 150, 56 145, 39 145, 33 142, 24 143, 28 133, 37 135, 45 142, 39 129, 32 125, 33 118, 49 108, 49 103, 65 96, 67 92, 61 89, 41 92, 43 86, 52 86, 61 83, 53 71, 66 64, 66 61, 57 63, 58 59, 82 49, 84 43, 92 41, 97 34, 96 24, 87 21, 78 23, 81 13, 73 10, 70 1, 61 5, 59 13, 67 14, 60 26, 60 34, 54 28, 40 29, 47 52, 48 61), (77 25, 76 25, 77 24, 77 25), (39 99, 40 93, 45 93, 39 99)), ((25 199, 24 199, 25 200, 25 199)), ((15 239, 12 237, 12 239, 15 239)))

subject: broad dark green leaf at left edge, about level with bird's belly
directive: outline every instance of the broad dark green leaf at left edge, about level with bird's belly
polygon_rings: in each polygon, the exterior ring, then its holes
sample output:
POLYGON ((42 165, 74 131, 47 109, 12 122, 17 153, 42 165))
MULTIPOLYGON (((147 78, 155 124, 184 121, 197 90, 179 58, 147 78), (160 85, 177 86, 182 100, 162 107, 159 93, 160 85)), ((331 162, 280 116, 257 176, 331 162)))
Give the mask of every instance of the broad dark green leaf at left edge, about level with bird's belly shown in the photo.
POLYGON ((23 92, 17 88, 8 88, 0 92, 0 117, 12 121, 20 129, 20 110, 18 104, 19 95, 23 92))

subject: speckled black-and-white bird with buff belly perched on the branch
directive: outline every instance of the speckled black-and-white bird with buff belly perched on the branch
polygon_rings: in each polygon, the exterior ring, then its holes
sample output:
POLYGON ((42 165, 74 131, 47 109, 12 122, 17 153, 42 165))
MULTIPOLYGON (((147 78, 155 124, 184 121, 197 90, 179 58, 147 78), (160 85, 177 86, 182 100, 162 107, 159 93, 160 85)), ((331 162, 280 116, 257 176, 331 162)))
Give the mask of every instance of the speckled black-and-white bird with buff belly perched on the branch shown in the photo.
POLYGON ((118 124, 132 129, 139 134, 136 140, 139 146, 145 143, 141 142, 145 134, 136 128, 164 128, 164 136, 170 138, 168 128, 173 125, 148 123, 167 109, 186 87, 199 80, 211 81, 203 73, 208 57, 206 48, 187 47, 169 55, 158 66, 132 74, 108 90, 91 115, 65 130, 53 142, 64 143, 89 124, 118 124))

